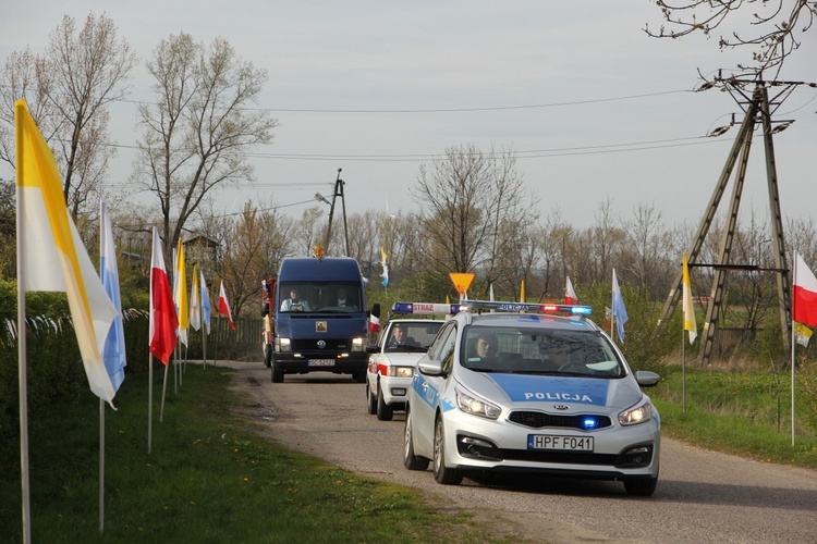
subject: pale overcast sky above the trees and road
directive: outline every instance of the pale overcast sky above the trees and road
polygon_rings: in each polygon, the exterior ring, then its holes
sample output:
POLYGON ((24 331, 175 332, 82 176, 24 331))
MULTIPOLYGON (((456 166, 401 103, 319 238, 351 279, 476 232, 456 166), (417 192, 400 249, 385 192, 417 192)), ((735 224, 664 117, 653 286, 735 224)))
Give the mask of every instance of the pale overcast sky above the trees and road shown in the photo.
MULTIPOLYGON (((542 215, 556 207, 574 226, 589 226, 609 197, 623 219, 642 203, 669 223, 697 225, 737 131, 694 138, 727 124, 731 113, 743 119, 730 95, 690 90, 699 83, 698 70, 733 70, 749 52, 720 52, 717 36, 649 38, 645 24, 661 24, 649 0, 0 5, 3 62, 26 46, 42 53, 65 13, 80 26, 88 13, 106 13, 139 55, 132 100, 153 99, 144 62, 160 39, 180 32, 207 44, 222 37, 243 60, 266 69, 269 82, 258 106, 272 110, 280 126, 272 145, 256 150, 267 156, 253 160, 258 183, 219 195, 224 211, 261 195, 300 215, 317 203, 316 191, 331 195, 339 168, 347 212, 387 206, 391 213, 416 211, 412 188, 419 164, 449 147, 474 144, 519 153, 517 170, 540 198, 542 215), (322 159, 305 157, 316 154, 322 159)), ((817 82, 816 36, 813 28, 782 78, 817 82)), ((816 113, 817 89, 801 87, 775 116, 796 120, 775 137, 784 217, 817 215, 816 113)), ((118 144, 134 145, 135 106, 120 103, 111 114, 118 144)), ((132 151, 120 151, 112 183, 126 181, 132 159, 132 151)), ((0 177, 11 175, 0 165, 0 177)), ((767 215, 765 175, 756 138, 745 212, 767 215)))

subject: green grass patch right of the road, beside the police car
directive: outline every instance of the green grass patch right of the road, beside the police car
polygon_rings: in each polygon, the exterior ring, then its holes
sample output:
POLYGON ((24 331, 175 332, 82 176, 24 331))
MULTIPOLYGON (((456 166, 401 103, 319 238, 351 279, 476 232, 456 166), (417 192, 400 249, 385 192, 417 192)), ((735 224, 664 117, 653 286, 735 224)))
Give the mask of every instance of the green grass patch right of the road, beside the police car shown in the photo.
POLYGON ((758 371, 686 370, 686 409, 681 370, 669 367, 648 390, 661 415, 664 436, 765 462, 817 469, 817 429, 808 417, 813 399, 795 395, 795 443, 791 433, 788 374, 758 371))

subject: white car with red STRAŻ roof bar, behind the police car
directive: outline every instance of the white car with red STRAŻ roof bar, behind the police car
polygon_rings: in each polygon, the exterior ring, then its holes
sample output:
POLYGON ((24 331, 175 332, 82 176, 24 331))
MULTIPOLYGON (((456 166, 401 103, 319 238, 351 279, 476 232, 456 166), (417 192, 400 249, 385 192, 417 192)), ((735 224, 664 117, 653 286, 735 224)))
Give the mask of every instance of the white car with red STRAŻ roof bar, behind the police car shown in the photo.
MULTIPOLYGON (((450 316, 459 305, 395 302, 393 314, 450 316)), ((377 419, 390 421, 394 410, 405 408, 417 360, 428 350, 443 321, 391 319, 369 356, 366 372, 366 409, 377 419)))

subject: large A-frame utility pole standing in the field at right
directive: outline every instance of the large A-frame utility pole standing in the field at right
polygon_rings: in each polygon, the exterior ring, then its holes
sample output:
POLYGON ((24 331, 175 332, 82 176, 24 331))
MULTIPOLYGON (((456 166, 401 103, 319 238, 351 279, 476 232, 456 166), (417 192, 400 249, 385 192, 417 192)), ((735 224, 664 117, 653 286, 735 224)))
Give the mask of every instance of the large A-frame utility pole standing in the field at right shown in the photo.
MULTIPOLYGON (((780 132, 791 124, 790 121, 778 122, 782 123, 776 127, 772 127, 771 121, 771 109, 770 103, 773 103, 777 109, 781 103, 782 99, 779 99, 782 95, 791 94, 791 90, 802 82, 764 82, 758 78, 753 82, 742 82, 735 78, 719 79, 720 83, 733 95, 740 95, 743 100, 735 99, 742 107, 745 104, 745 116, 741 123, 741 127, 735 138, 732 149, 730 150, 727 163, 723 166, 718 184, 715 187, 712 197, 709 200, 709 206, 704 214, 704 218, 698 225, 697 233, 693 239, 692 246, 688 250, 688 263, 690 267, 711 267, 715 269, 715 277, 712 280, 712 288, 707 305, 706 320, 704 321, 703 332, 703 350, 702 350, 702 362, 707 363, 709 356, 712 350, 712 343, 715 338, 716 326, 720 317, 720 311, 723 307, 723 298, 725 292, 725 280, 727 271, 731 269, 746 269, 753 268, 761 270, 757 265, 745 265, 745 264, 733 264, 731 263, 732 243, 737 225, 737 214, 741 205, 741 196, 743 194, 743 185, 746 176, 746 165, 748 163, 749 151, 752 149, 752 137, 755 127, 758 125, 761 127, 764 137, 764 148, 766 152, 766 181, 769 194, 769 212, 771 217, 771 240, 773 244, 775 255, 775 268, 763 269, 772 271, 777 274, 777 287, 778 287, 778 305, 780 312, 780 324, 783 335, 783 345, 786 348, 790 347, 791 338, 791 279, 789 277, 789 268, 786 264, 785 255, 785 242, 783 237, 783 221, 780 212, 780 196, 778 190, 778 177, 777 177, 777 164, 775 162, 775 147, 772 143, 772 134, 780 132), (743 87, 748 84, 755 85, 754 92, 748 96, 743 87), (784 89, 775 97, 775 100, 770 102, 768 88, 769 86, 782 86, 784 89), (712 224, 715 214, 718 209, 723 194, 725 193, 729 178, 732 175, 732 171, 737 164, 737 173, 735 178, 735 185, 732 189, 732 198, 730 201, 729 213, 727 217, 727 225, 721 238, 720 251, 718 262, 714 264, 696 264, 698 254, 704 245, 709 227, 712 224)), ((725 128, 722 131, 725 132, 725 128)), ((719 134, 722 134, 720 132, 719 134)), ((675 282, 672 284, 670 294, 663 306, 662 321, 666 321, 672 317, 675 310, 678 300, 681 296, 681 281, 682 273, 679 272, 675 282)))

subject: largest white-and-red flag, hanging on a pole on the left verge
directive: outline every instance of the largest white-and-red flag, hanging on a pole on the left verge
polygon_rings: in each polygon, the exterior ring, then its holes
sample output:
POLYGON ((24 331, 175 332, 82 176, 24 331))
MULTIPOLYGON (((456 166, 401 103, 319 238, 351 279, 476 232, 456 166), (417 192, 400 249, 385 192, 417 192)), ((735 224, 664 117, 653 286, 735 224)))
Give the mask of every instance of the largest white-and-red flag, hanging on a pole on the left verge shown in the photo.
POLYGON ((150 353, 164 364, 175 349, 179 338, 179 317, 175 312, 173 293, 164 268, 159 233, 154 227, 154 254, 150 257, 150 353))

